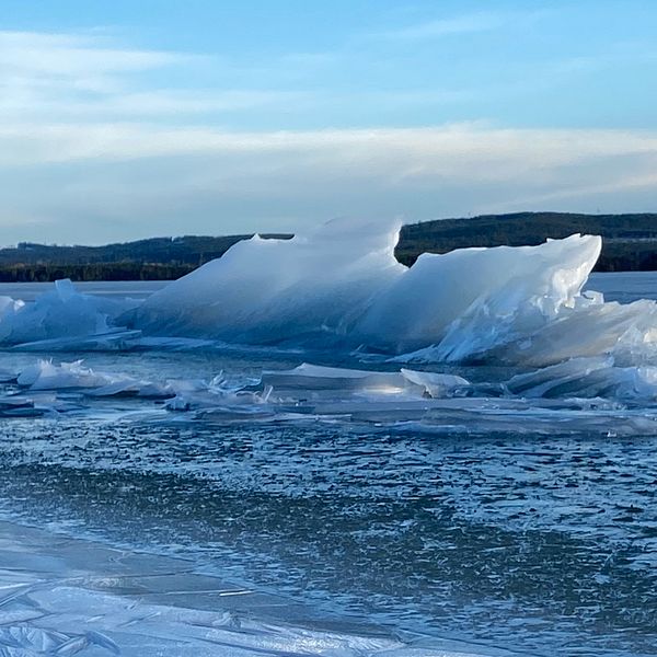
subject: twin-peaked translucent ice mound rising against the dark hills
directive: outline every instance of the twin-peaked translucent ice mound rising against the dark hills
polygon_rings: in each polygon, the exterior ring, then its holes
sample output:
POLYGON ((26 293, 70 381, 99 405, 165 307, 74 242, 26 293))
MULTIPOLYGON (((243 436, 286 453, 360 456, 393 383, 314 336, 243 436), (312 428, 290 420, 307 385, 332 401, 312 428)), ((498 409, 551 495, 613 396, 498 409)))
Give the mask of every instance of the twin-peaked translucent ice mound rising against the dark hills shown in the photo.
POLYGON ((154 293, 132 323, 162 335, 462 360, 600 303, 579 293, 600 238, 424 254, 408 268, 394 257, 397 237, 399 226, 381 233, 344 222, 292 240, 256 237, 154 293))

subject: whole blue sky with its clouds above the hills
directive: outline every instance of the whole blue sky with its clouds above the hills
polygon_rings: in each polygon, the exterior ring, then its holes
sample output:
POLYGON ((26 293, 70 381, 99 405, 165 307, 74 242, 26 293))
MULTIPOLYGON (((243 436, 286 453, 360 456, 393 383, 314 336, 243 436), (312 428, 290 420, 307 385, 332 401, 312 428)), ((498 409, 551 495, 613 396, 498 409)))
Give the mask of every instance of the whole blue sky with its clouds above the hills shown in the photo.
POLYGON ((657 211, 654 0, 0 0, 0 244, 657 211))

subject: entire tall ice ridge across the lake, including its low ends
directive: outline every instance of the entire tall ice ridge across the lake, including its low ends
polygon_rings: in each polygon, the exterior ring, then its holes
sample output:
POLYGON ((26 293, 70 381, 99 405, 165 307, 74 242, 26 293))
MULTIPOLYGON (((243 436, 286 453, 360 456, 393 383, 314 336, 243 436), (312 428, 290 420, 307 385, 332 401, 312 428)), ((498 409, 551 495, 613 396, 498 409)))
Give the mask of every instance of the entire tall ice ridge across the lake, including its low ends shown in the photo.
POLYGON ((400 362, 543 367, 609 355, 657 364, 657 304, 581 289, 600 238, 394 257, 399 226, 334 221, 291 240, 239 242, 143 302, 58 281, 34 303, 3 298, 0 345, 34 350, 250 345, 378 354, 400 362))

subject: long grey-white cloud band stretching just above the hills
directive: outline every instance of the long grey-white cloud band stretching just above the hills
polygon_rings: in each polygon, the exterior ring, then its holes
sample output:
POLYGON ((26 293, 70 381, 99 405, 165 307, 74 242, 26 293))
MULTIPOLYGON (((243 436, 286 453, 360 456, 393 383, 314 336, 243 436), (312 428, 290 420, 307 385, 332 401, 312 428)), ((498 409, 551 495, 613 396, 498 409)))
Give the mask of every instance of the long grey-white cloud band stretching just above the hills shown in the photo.
POLYGON ((626 130, 14 125, 0 129, 0 164, 3 234, 26 239, 7 223, 19 216, 42 220, 50 241, 295 230, 337 215, 657 205, 657 134, 626 130))

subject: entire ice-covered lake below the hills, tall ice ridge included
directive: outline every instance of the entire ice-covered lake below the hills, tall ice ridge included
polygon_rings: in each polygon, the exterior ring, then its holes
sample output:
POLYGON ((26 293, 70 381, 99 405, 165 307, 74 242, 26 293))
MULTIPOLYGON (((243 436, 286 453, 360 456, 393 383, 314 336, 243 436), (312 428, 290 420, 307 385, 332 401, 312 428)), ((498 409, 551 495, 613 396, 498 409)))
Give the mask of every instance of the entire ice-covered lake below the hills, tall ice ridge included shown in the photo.
POLYGON ((656 654, 654 276, 395 239, 5 286, 3 654, 656 654))

